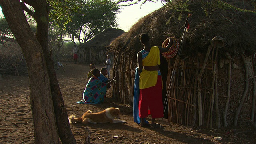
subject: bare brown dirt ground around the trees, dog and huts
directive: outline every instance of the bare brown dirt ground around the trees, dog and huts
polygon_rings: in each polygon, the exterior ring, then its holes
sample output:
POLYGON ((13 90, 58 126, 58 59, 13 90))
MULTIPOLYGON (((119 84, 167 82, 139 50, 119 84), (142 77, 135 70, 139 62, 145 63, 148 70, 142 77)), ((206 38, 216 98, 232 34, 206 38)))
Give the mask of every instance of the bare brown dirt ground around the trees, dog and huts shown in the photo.
MULTIPOLYGON (((90 71, 89 64, 63 63, 56 70, 58 82, 67 106, 68 116, 82 116, 87 110, 99 112, 108 107, 120 108, 121 119, 126 124, 70 124, 78 144, 84 143, 84 127, 91 132, 92 144, 255 144, 254 129, 226 128, 221 130, 188 127, 163 120, 162 128, 140 127, 133 121, 132 107, 112 99, 112 89, 107 91, 102 104, 77 104, 82 100, 90 71), (214 140, 220 136, 222 140, 214 140)), ((103 65, 102 65, 103 66, 103 65)), ((97 66, 96 68, 101 68, 97 66)), ((30 109, 28 76, 2 76, 0 81, 0 144, 33 144, 34 128, 30 109)), ((147 119, 150 122, 150 119, 147 119)), ((151 123, 151 122, 150 122, 151 123)))

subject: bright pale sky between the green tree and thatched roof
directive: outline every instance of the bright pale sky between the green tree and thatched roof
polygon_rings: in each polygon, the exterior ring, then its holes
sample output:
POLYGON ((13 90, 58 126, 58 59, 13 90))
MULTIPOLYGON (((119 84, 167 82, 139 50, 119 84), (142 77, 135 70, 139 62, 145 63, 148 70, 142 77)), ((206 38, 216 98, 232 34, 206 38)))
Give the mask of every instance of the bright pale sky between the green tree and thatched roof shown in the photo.
MULTIPOLYGON (((159 0, 154 2, 146 2, 142 6, 136 4, 133 6, 126 6, 120 10, 117 14, 118 28, 127 32, 134 23, 136 23, 140 18, 158 10, 163 6, 162 2, 159 0)), ((0 7, 0 17, 3 17, 2 8, 0 7)))

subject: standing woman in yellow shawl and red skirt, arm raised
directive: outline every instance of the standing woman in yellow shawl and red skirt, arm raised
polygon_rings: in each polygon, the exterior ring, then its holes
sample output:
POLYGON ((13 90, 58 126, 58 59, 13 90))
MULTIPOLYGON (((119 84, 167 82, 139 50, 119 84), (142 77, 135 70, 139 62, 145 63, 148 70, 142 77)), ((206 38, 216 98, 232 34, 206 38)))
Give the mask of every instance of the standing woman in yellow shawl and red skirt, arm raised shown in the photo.
POLYGON ((144 49, 137 54, 138 71, 140 72, 140 126, 146 125, 145 118, 151 114, 151 128, 157 128, 160 127, 160 124, 156 124, 155 119, 164 116, 162 77, 159 69, 160 53, 167 52, 172 46, 173 40, 169 38, 166 48, 151 46, 148 34, 141 34, 140 42, 144 45, 144 49))

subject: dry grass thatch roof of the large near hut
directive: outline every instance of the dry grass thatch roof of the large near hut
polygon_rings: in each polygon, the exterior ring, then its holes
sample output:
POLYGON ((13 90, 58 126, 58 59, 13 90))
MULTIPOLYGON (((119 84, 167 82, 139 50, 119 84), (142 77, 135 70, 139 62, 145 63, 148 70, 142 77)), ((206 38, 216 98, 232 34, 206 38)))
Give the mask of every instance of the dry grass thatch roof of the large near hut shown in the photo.
MULTIPOLYGON (((250 2, 227 1, 238 8, 254 10, 250 2)), ((205 51, 215 36, 224 38, 224 47, 220 48, 223 53, 256 52, 256 14, 208 6, 208 9, 206 8, 208 15, 206 15, 202 7, 206 6, 197 0, 189 2, 190 12, 181 12, 164 6, 141 18, 128 32, 116 38, 110 50, 122 50, 126 52, 126 56, 138 52, 142 49, 139 41, 142 33, 149 34, 152 39, 151 44, 157 46, 161 46, 169 36, 175 36, 181 40, 184 22, 187 14, 191 13, 190 28, 184 36, 183 54, 205 51), (179 16, 182 18, 180 19, 179 16)))

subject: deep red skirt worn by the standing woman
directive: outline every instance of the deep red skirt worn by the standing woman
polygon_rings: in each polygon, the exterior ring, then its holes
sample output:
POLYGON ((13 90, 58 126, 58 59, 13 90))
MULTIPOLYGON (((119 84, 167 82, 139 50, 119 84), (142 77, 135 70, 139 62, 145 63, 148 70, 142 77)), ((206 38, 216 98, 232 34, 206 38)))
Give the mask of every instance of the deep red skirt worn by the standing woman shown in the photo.
POLYGON ((152 118, 164 117, 161 76, 158 76, 156 86, 140 89, 139 116, 146 118, 148 114, 151 114, 152 118))

